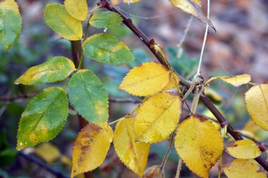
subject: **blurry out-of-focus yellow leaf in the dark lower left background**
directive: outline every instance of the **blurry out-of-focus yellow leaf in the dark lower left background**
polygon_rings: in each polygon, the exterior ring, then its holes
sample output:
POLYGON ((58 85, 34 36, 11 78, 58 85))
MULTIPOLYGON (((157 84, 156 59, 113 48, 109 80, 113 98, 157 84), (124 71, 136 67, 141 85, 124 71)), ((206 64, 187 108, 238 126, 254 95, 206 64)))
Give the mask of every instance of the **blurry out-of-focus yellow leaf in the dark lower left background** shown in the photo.
POLYGON ((49 143, 37 146, 35 153, 49 164, 54 163, 61 156, 59 148, 49 143))

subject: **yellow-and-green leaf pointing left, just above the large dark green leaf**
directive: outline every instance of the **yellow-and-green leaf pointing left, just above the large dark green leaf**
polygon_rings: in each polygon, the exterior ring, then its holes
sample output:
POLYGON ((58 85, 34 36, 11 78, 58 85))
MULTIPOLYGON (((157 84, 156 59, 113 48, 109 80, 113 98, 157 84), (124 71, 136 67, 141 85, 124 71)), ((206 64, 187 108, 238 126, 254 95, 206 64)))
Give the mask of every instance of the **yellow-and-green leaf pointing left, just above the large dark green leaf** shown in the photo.
POLYGON ((21 75, 16 84, 45 84, 66 79, 75 70, 73 62, 63 56, 50 58, 49 61, 36 65, 21 75))

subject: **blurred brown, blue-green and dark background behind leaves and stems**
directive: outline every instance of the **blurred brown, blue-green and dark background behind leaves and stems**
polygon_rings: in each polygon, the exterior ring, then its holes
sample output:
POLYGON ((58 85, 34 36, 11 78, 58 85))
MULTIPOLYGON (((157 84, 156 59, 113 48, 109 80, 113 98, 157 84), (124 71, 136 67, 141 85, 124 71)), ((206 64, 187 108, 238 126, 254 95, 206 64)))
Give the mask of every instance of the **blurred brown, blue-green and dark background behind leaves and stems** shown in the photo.
MULTIPOLYGON (((93 8, 97 1, 87 2, 89 7, 93 8)), ((44 8, 49 3, 63 4, 63 1, 18 0, 23 18, 22 34, 7 53, 0 47, 0 177, 64 177, 69 176, 71 171, 72 145, 79 132, 78 115, 72 109, 63 131, 55 139, 20 152, 15 149, 18 122, 29 98, 51 84, 23 86, 13 84, 13 81, 28 68, 43 63, 52 56, 72 58, 71 43, 61 39, 44 23, 44 8), (40 164, 42 166, 39 166, 40 164)), ((206 1, 203 1, 205 11, 206 6, 206 1)), ((190 15, 174 8, 168 0, 143 0, 138 4, 125 4, 118 8, 132 18, 135 25, 138 25, 148 37, 164 48, 171 65, 179 74, 188 80, 195 75, 205 24, 194 18, 182 46, 178 47, 189 24, 190 15)), ((212 1, 210 19, 217 33, 209 30, 201 68, 205 80, 210 76, 248 73, 252 76, 252 82, 267 82, 268 1, 212 1)), ((90 27, 90 34, 97 32, 103 30, 90 27)), ((155 61, 155 58, 140 39, 124 25, 108 29, 107 32, 127 44, 136 61, 115 67, 97 63, 85 56, 85 68, 97 74, 110 98, 139 99, 119 90, 118 84, 130 68, 145 61, 155 61)), ((63 83, 52 85, 63 86, 63 83)), ((245 136, 250 135, 265 143, 268 138, 267 132, 253 122, 248 122, 250 117, 245 110, 243 97, 247 89, 246 85, 235 89, 223 82, 213 82, 206 92, 236 129, 243 130, 245 136)), ((190 103, 190 99, 188 102, 190 103)), ((109 121, 117 120, 136 106, 137 103, 111 103, 109 121)), ((202 103, 197 113, 213 120, 212 113, 206 110, 202 103)), ((187 112, 184 115, 187 115, 187 112)), ((226 139, 226 145, 228 141, 231 139, 226 139)), ((147 166, 161 164, 168 146, 169 141, 153 144, 147 166)), ((267 153, 263 155, 267 158, 267 153)), ((224 154, 223 165, 231 159, 229 155, 224 154)), ((172 150, 166 165, 166 177, 174 177, 177 163, 178 156, 176 151, 172 150)), ((216 165, 210 172, 211 177, 217 177, 217 172, 216 165)), ((105 162, 89 177, 137 176, 118 160, 111 146, 105 162)), ((196 176, 183 165, 181 177, 196 176)))

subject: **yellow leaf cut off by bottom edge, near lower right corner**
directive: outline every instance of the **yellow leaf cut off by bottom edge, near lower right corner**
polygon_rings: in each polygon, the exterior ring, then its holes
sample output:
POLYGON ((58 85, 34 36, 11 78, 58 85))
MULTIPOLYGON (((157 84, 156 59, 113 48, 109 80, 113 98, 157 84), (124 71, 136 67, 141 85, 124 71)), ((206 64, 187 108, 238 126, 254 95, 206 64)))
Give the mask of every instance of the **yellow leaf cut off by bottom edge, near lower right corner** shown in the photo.
POLYGON ((224 167, 224 173, 228 178, 266 178, 255 160, 233 160, 230 165, 224 167))

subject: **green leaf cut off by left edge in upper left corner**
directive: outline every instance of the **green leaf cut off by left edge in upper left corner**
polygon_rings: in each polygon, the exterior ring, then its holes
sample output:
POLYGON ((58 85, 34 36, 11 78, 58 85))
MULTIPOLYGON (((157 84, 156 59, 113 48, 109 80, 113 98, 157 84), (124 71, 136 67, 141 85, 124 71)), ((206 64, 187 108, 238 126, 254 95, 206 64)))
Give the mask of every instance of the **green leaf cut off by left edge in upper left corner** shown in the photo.
POLYGON ((22 20, 14 0, 0 1, 0 44, 8 49, 20 36, 22 20))

